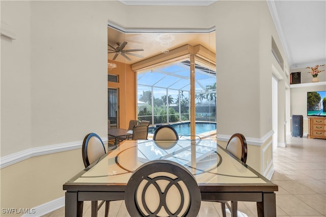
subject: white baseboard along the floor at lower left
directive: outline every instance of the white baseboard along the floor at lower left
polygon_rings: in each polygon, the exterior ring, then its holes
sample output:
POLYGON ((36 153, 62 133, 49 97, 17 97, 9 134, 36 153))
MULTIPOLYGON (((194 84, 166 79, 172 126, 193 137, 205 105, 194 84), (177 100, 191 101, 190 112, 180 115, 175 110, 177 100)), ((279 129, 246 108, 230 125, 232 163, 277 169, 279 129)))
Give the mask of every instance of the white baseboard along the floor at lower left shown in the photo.
POLYGON ((38 217, 38 216, 42 216, 47 213, 50 213, 54 210, 60 209, 61 207, 64 207, 64 206, 65 206, 65 197, 61 197, 61 198, 49 201, 47 203, 43 203, 39 206, 36 206, 36 207, 30 209, 30 211, 31 210, 33 210, 33 211, 31 211, 30 213, 23 214, 22 216, 38 217), (32 213, 32 212, 34 212, 34 213, 32 213))

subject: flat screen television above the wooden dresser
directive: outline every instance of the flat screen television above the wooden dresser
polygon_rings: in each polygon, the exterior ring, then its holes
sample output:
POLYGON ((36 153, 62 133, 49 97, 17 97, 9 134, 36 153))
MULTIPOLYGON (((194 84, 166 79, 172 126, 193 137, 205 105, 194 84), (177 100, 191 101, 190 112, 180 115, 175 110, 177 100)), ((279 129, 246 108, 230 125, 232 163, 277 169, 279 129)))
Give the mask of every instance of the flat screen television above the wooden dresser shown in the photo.
POLYGON ((307 92, 307 115, 326 116, 326 90, 307 92))

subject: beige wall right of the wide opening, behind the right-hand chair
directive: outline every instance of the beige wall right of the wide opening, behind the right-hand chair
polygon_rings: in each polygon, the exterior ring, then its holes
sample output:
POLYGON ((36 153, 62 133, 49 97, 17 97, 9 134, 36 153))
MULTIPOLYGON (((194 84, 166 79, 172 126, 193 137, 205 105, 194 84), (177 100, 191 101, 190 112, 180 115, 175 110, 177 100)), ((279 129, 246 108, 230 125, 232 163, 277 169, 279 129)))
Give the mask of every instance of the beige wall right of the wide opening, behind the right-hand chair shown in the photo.
MULTIPOLYGON (((266 162, 273 161, 269 143, 272 126, 271 76, 279 82, 279 142, 285 142, 285 89, 289 67, 268 6, 263 1, 219 1, 216 14, 217 118, 220 135, 240 132, 248 139, 249 150, 256 157, 248 165, 267 173, 266 162), (227 24, 225 23, 227 20, 227 24), (283 59, 284 70, 271 53, 274 38, 283 59), (275 66, 274 66, 275 65, 275 66), (284 97, 283 97, 284 96, 284 97), (259 145, 253 144, 258 139, 259 145), (267 147, 267 146, 268 147, 267 147), (266 147, 265 147, 266 146, 266 147), (266 152, 267 151, 267 152, 266 152), (263 155, 265 155, 263 157, 263 155)), ((273 169, 272 169, 273 170, 273 169)))

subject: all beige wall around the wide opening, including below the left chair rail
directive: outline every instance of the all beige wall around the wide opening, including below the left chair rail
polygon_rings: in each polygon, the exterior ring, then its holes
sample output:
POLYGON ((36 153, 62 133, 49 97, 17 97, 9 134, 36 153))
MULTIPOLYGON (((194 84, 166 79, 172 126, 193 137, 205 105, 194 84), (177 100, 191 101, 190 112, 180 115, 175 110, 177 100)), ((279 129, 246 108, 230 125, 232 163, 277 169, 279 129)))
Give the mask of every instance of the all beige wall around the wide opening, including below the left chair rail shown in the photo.
MULTIPOLYGON (((271 130, 270 35, 281 44, 265 2, 132 7, 117 1, 2 1, 1 18, 17 33, 14 41, 1 38, 1 157, 80 141, 89 132, 106 136, 107 21, 125 28, 215 26, 218 134, 242 132, 261 140, 271 130)), ((250 147, 251 154, 260 156, 267 141, 250 147)), ((31 208, 64 196, 62 184, 83 168, 81 158, 76 149, 1 169, 1 208, 31 208), (17 172, 31 190, 17 191, 10 181, 19 179, 17 172)), ((261 161, 250 166, 261 171, 261 161)))

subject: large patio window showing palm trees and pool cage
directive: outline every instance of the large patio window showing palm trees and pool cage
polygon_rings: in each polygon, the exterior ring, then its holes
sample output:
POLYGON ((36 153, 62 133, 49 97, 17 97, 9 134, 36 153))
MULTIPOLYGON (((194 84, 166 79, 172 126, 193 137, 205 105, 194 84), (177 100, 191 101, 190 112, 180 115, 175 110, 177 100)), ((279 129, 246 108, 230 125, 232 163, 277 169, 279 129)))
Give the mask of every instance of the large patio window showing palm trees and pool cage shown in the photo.
MULTIPOLYGON (((138 72, 138 119, 153 124, 191 120, 189 59, 138 72)), ((215 121, 216 73, 195 64, 196 120, 215 121)))

